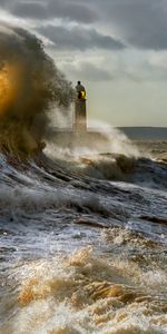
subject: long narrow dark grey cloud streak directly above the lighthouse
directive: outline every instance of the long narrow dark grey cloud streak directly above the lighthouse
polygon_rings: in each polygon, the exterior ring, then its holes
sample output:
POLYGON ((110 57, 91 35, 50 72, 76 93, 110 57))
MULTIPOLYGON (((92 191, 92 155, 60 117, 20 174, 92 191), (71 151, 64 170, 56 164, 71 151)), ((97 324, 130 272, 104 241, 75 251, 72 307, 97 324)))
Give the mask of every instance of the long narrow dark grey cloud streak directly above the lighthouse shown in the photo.
POLYGON ((95 29, 75 27, 47 26, 39 29, 39 32, 49 38, 59 49, 87 50, 92 48, 121 50, 125 46, 110 36, 101 35, 95 29))

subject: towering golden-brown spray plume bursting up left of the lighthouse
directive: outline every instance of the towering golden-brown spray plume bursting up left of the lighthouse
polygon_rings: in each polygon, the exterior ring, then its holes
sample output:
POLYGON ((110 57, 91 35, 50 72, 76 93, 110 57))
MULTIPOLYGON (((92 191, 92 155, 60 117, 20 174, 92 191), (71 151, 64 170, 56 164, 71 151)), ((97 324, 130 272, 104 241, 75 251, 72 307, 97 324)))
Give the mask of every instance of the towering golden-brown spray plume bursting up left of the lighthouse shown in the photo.
POLYGON ((48 114, 73 98, 42 42, 22 28, 0 24, 0 148, 32 154, 41 148, 48 114))

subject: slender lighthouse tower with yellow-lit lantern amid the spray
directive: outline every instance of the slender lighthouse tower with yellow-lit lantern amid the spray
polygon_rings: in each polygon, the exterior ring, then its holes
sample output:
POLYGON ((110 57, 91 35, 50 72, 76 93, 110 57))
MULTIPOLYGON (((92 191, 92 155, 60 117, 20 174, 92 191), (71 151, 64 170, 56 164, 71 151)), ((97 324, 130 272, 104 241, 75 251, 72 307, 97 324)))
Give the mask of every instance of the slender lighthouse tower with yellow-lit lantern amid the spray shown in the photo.
POLYGON ((87 131, 86 89, 80 81, 76 86, 73 131, 87 131))

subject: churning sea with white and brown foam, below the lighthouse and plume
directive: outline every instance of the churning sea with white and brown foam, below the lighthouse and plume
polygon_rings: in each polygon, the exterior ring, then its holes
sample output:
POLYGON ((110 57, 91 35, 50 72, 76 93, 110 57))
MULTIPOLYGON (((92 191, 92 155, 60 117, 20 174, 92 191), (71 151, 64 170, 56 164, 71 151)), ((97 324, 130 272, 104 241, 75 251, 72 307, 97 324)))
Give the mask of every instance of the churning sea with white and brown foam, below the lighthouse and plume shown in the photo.
POLYGON ((1 154, 0 333, 167 333, 167 141, 1 154))

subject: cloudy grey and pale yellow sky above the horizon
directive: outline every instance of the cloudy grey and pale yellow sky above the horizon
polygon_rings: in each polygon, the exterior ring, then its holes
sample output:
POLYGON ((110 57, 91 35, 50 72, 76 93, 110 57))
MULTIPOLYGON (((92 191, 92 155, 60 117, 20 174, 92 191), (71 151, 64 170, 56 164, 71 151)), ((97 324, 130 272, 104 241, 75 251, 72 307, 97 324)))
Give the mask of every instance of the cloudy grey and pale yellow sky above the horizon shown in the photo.
POLYGON ((87 89, 89 120, 167 127, 167 0, 0 0, 87 89))

